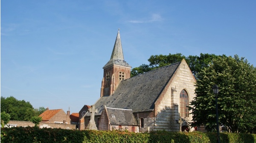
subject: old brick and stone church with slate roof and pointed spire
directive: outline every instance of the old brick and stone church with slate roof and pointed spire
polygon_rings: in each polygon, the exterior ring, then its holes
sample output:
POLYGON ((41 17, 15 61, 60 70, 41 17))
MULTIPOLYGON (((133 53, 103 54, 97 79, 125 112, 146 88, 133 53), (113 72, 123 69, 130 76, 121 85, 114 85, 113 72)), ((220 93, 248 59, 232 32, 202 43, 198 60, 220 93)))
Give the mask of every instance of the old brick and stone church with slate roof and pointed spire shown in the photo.
MULTIPOLYGON (((187 108, 196 96, 196 79, 185 59, 134 77, 130 72, 118 31, 111 58, 103 67, 100 97, 93 105, 98 130, 196 130, 189 126, 192 115, 187 108)), ((90 114, 82 117, 84 129, 90 114)))

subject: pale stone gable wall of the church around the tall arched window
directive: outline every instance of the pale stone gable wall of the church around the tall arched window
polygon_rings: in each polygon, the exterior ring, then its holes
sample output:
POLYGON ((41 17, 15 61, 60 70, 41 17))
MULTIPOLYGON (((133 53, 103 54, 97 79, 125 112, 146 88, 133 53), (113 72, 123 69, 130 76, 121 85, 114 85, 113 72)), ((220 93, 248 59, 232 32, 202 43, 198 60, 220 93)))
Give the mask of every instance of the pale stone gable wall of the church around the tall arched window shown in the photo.
MULTIPOLYGON (((195 78, 186 61, 183 60, 175 74, 155 103, 155 130, 179 131, 177 121, 180 118, 180 92, 188 93, 189 102, 195 97, 195 78)), ((186 118, 191 120, 192 115, 186 118)))

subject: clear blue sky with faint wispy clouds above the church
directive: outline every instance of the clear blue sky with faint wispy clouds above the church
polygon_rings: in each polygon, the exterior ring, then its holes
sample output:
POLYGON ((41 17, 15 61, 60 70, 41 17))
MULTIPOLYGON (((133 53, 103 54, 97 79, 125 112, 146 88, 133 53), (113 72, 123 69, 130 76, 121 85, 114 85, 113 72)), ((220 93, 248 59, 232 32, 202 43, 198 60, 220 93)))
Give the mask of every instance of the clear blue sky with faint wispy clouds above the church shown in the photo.
POLYGON ((255 0, 1 0, 1 96, 79 112, 100 97, 118 28, 125 61, 238 54, 256 65, 255 0))

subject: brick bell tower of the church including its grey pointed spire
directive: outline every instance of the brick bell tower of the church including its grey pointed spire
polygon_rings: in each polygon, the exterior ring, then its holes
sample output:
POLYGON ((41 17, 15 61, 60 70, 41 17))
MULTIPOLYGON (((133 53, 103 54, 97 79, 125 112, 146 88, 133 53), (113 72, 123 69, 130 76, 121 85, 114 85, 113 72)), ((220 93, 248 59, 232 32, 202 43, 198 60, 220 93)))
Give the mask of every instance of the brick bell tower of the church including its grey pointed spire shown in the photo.
POLYGON ((130 78, 131 66, 124 60, 119 29, 111 58, 108 63, 105 64, 103 70, 104 74, 100 97, 112 95, 122 80, 130 78))

